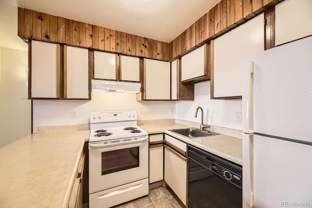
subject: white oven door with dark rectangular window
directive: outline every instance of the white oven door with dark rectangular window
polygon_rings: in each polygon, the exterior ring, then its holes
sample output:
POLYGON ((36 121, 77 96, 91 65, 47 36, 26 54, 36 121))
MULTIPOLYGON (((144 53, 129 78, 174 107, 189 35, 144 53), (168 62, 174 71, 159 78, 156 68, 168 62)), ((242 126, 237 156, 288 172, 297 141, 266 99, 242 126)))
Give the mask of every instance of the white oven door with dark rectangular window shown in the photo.
POLYGON ((148 178, 148 136, 110 144, 89 143, 90 194, 144 178, 148 178))

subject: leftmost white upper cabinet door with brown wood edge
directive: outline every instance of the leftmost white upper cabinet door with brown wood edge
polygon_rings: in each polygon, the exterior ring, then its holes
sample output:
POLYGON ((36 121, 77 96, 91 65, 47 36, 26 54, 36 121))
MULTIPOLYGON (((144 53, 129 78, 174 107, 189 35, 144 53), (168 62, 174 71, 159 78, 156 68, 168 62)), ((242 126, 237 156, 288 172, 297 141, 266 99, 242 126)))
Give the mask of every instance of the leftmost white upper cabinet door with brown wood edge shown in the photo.
POLYGON ((31 41, 31 97, 60 97, 59 44, 31 41))

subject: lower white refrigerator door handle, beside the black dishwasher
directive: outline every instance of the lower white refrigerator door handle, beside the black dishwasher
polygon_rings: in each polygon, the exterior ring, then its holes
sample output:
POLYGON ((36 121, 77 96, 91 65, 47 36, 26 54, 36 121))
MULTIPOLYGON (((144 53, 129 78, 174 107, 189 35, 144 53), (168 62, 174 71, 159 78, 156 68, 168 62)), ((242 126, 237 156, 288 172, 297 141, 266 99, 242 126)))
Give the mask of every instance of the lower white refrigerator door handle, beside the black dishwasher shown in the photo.
POLYGON ((254 207, 253 134, 243 133, 243 208, 254 207))

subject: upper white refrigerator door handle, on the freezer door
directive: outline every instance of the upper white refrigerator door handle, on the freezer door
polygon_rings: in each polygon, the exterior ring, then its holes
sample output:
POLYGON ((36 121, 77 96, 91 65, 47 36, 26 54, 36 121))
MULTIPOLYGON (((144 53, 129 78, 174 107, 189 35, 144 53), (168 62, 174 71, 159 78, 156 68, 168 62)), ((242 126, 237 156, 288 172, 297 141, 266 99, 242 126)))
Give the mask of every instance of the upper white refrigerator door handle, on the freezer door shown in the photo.
POLYGON ((253 104, 253 73, 254 73, 254 62, 251 60, 246 60, 245 63, 245 70, 244 70, 244 79, 246 82, 246 85, 244 86, 244 89, 246 90, 244 96, 245 104, 243 104, 243 111, 245 112, 245 120, 243 122, 243 132, 246 133, 254 133, 253 126, 252 126, 252 104, 253 104))

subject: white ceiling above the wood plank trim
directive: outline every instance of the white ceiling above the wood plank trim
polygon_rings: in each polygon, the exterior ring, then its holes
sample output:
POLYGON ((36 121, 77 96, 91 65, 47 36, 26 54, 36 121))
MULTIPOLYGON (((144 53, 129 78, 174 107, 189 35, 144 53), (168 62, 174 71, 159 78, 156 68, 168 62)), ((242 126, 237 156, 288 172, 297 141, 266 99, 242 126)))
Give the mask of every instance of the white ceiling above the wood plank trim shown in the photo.
MULTIPOLYGON (((0 46, 5 43, 2 40, 4 38, 16 39, 17 6, 158 41, 171 42, 219 1, 0 0, 0 46), (2 30, 3 26, 5 31, 2 30)), ((15 42, 21 43, 17 40, 15 42)))

